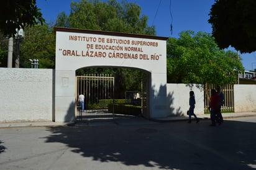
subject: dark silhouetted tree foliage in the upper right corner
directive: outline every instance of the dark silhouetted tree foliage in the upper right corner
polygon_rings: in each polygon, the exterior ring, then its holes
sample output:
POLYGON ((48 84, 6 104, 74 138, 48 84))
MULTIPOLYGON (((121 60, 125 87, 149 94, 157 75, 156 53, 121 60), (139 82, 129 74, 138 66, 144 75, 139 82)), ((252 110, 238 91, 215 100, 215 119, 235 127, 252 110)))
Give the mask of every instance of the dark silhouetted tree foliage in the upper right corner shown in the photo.
POLYGON ((208 22, 219 48, 231 45, 241 53, 256 50, 255 9, 255 0, 216 0, 208 22))

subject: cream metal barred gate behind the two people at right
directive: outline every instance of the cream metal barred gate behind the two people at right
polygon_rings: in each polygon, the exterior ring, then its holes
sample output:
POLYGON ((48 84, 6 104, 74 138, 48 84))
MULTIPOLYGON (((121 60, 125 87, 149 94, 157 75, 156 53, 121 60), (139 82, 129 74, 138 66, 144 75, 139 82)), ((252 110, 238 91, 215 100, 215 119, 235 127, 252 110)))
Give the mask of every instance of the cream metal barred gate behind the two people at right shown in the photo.
MULTIPOLYGON (((209 113, 211 89, 216 89, 213 84, 204 86, 204 113, 209 113)), ((221 106, 221 112, 234 112, 234 84, 226 84, 221 86, 224 94, 224 105, 221 106)))

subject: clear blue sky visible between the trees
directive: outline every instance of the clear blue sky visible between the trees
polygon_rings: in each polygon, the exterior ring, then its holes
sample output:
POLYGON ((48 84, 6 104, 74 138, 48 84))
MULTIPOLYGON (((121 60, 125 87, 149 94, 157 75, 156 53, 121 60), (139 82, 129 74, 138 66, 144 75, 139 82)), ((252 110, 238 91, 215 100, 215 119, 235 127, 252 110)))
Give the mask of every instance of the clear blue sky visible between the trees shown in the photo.
MULTIPOLYGON (((37 0, 37 7, 41 9, 43 18, 49 23, 54 22, 57 14, 62 11, 70 14, 71 1, 37 0)), ((155 25, 158 36, 178 38, 178 34, 183 30, 208 33, 212 31, 211 24, 208 23, 208 14, 214 0, 127 0, 127 2, 139 4, 142 14, 149 17, 148 25, 155 25), (173 25, 172 34, 170 31, 171 22, 173 25)), ((256 68, 255 52, 241 55, 241 58, 245 70, 249 71, 256 68)))

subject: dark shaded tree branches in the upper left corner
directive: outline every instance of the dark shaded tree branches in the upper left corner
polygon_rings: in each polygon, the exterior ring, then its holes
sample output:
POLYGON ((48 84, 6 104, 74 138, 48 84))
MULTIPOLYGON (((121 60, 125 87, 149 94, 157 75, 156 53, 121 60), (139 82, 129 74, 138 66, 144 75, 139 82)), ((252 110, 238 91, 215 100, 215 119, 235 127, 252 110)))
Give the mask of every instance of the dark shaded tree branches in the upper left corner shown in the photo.
POLYGON ((5 36, 11 37, 16 34, 16 29, 24 29, 27 26, 44 22, 35 0, 1 1, 0 32, 5 36))

